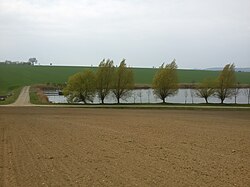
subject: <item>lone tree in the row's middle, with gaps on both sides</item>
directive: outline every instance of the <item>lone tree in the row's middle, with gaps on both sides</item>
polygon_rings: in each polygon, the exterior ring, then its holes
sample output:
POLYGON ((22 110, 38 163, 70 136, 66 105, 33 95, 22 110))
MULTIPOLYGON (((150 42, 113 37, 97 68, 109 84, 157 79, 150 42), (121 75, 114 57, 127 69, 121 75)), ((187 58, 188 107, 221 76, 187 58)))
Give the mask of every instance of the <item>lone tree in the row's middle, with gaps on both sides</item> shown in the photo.
POLYGON ((156 72, 153 79, 154 94, 159 97, 163 103, 169 96, 178 92, 177 64, 173 60, 170 64, 162 64, 156 72))

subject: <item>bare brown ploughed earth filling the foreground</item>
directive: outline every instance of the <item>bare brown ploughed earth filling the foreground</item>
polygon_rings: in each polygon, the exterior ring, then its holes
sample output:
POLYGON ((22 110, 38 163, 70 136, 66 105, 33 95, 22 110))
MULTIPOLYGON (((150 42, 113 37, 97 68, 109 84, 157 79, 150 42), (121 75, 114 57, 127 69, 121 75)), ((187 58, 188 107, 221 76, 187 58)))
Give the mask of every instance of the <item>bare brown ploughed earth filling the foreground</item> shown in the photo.
POLYGON ((0 107, 0 186, 250 186, 250 112, 0 107))

